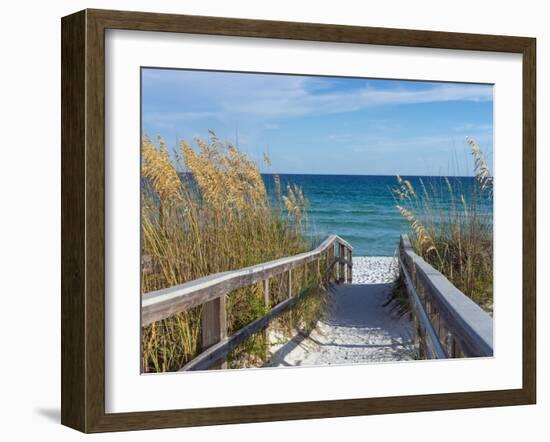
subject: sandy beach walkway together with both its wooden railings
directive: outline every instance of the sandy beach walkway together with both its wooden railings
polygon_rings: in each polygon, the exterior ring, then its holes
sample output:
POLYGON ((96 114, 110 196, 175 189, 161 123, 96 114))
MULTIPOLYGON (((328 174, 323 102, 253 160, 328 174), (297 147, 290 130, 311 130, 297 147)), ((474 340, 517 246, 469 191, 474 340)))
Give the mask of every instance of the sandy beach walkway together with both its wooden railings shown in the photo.
POLYGON ((333 234, 308 252, 148 292, 142 297, 141 323, 146 326, 200 305, 202 352, 180 371, 226 368, 227 355, 266 327, 272 338, 271 366, 493 355, 492 317, 414 253, 407 235, 400 238, 396 259, 354 258, 353 247, 333 234), (332 302, 328 313, 317 329, 308 337, 298 336, 288 342, 269 326, 301 299, 304 288, 293 278, 295 269, 300 268, 302 275, 313 271, 319 280, 336 285, 329 293, 332 302), (415 318, 414 331, 408 319, 395 318, 384 306, 397 268, 407 293, 404 301, 415 318), (270 284, 273 278, 286 281, 284 300, 279 299, 275 306, 270 284), (229 336, 227 297, 259 283, 267 313, 229 336), (418 348, 413 340, 418 341, 418 348))

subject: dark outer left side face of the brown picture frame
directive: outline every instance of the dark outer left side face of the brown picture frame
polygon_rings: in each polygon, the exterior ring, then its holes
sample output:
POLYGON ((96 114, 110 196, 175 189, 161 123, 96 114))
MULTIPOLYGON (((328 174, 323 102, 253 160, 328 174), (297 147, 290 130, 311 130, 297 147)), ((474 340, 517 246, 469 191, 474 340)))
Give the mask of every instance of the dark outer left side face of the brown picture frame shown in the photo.
POLYGON ((81 11, 61 22, 61 423, 80 431, 88 402, 85 20, 81 11))

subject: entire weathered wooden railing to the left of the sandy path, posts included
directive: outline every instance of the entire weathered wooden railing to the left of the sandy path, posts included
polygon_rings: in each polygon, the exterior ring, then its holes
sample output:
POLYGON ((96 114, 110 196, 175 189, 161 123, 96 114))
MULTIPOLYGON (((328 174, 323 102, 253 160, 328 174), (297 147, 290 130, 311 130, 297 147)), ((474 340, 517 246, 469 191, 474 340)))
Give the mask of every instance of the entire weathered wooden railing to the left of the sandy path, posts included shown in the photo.
POLYGON ((293 292, 293 269, 304 266, 304 272, 307 272, 308 264, 315 263, 315 271, 320 275, 321 259, 326 257, 324 261, 327 268, 324 271, 327 273, 327 279, 335 282, 351 282, 352 251, 350 244, 337 235, 331 235, 319 247, 309 252, 239 270, 215 273, 185 284, 145 293, 141 303, 141 325, 143 327, 202 305, 201 346, 203 351, 181 370, 224 368, 229 352, 296 303, 300 293, 293 292), (269 307, 269 281, 282 274, 286 274, 288 278, 287 299, 275 305, 266 315, 233 335, 227 336, 227 295, 233 290, 263 282, 264 303, 269 307))

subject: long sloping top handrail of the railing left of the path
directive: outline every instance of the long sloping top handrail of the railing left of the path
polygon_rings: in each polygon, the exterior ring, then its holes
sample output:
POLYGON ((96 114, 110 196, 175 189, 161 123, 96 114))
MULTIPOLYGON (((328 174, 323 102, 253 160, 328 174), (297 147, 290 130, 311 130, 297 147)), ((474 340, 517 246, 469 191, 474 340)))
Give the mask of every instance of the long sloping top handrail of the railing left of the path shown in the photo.
MULTIPOLYGON (((353 247, 338 235, 330 235, 315 249, 238 270, 220 272, 166 289, 145 293, 141 302, 141 325, 168 318, 176 313, 219 298, 227 293, 280 275, 299 265, 319 259, 335 243, 349 251, 353 247)), ((350 265, 351 262, 348 264, 350 265)))

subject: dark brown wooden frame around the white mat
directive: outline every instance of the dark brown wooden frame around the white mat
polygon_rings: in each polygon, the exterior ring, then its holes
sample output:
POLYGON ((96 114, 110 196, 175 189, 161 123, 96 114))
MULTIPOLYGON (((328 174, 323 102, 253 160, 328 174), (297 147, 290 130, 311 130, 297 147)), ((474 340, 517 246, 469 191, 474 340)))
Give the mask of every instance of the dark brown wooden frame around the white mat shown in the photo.
POLYGON ((106 10, 62 19, 62 409, 83 432, 533 404, 536 400, 534 38, 106 10), (132 413, 105 412, 105 30, 494 51, 523 63, 523 385, 426 394, 132 413))

